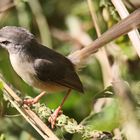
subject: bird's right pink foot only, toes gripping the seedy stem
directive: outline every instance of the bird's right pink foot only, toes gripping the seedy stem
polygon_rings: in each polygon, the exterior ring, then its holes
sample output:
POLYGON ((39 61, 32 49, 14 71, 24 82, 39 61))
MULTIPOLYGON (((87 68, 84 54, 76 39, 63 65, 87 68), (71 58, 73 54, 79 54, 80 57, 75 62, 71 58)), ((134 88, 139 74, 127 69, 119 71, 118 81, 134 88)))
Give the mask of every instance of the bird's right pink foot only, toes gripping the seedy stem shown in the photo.
POLYGON ((56 119, 59 115, 62 114, 62 110, 61 107, 59 106, 54 112, 53 114, 48 118, 48 121, 51 123, 51 128, 54 128, 55 123, 56 123, 56 119))

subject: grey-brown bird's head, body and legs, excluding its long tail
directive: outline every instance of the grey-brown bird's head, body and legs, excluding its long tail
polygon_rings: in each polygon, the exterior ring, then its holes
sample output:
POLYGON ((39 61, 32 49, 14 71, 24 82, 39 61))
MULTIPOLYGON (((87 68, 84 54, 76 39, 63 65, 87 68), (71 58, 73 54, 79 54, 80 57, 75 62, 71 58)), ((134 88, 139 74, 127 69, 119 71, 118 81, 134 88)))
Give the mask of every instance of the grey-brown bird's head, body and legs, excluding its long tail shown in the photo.
POLYGON ((41 91, 35 98, 25 99, 24 104, 37 103, 46 92, 66 91, 62 103, 48 119, 54 128, 70 91, 73 89, 84 93, 75 65, 67 57, 39 43, 35 36, 23 27, 1 28, 0 46, 8 51, 11 65, 21 79, 41 91))

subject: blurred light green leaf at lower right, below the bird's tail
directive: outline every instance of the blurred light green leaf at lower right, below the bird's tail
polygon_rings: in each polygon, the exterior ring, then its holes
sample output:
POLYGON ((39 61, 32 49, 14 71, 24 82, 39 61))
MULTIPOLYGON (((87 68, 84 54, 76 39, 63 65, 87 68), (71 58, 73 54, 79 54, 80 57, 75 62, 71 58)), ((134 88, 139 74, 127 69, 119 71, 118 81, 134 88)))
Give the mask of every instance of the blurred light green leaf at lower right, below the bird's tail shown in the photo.
POLYGON ((119 108, 116 100, 112 104, 105 107, 99 113, 91 113, 82 121, 82 125, 89 127, 91 130, 112 131, 119 127, 120 116, 119 108))

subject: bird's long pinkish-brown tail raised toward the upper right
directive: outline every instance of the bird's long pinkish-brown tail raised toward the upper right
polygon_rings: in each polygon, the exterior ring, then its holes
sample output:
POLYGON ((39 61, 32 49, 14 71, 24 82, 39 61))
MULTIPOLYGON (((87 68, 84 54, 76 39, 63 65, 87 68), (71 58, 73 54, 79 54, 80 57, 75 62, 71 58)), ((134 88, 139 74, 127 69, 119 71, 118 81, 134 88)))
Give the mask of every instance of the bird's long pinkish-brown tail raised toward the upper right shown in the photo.
POLYGON ((81 65, 81 62, 83 63, 83 61, 85 61, 91 54, 97 52, 99 48, 118 38, 119 36, 124 35, 135 28, 138 28, 139 26, 140 8, 130 14, 127 18, 121 20, 118 24, 114 25, 98 39, 93 41, 89 46, 70 54, 68 58, 75 65, 81 65))

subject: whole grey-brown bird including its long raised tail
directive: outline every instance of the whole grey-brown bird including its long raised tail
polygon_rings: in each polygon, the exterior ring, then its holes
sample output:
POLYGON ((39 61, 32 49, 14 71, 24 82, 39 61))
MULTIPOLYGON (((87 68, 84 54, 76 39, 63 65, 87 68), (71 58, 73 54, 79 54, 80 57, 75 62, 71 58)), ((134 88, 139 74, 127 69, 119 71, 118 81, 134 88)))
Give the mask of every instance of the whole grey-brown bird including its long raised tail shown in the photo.
POLYGON ((38 102, 46 91, 67 91, 62 103, 49 118, 54 127, 70 90, 83 93, 83 86, 75 72, 74 64, 81 65, 83 60, 100 47, 139 26, 140 8, 110 28, 88 47, 69 55, 69 59, 41 45, 34 35, 21 27, 7 26, 0 29, 0 46, 9 52, 11 64, 17 74, 26 83, 41 90, 34 99, 24 100, 25 104, 32 105, 38 102))

